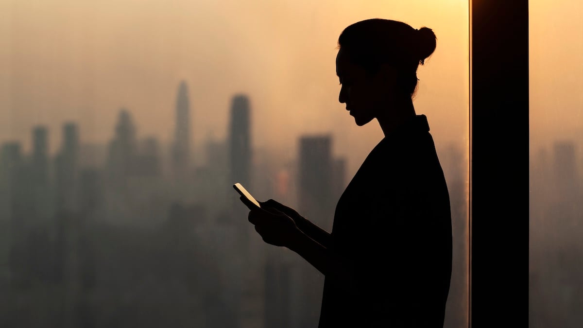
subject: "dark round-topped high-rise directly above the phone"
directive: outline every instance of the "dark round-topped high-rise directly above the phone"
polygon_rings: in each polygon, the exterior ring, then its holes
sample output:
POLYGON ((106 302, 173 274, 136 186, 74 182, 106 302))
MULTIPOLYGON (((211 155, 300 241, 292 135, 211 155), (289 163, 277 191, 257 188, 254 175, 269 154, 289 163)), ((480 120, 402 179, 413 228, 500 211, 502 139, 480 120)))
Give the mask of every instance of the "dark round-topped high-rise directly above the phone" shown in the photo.
MULTIPOLYGON (((236 95, 231 104, 229 125, 229 169, 231 184, 251 186, 251 123, 249 98, 236 95)), ((252 190, 250 190, 252 191, 252 190)))

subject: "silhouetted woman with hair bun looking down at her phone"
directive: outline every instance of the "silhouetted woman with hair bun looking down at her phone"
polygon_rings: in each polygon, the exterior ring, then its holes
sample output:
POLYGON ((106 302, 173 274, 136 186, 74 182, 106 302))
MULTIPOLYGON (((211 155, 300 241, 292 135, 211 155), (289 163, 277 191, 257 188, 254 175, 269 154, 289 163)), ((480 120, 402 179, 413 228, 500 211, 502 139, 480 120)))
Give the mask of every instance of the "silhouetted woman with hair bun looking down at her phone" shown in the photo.
MULTIPOLYGON (((442 327, 452 261, 449 194, 429 124, 413 96, 431 29, 368 19, 340 34, 339 102, 384 138, 340 197, 332 232, 274 200, 251 210, 265 242, 325 275, 319 327, 442 327)), ((241 200, 245 201, 244 198, 241 200)))

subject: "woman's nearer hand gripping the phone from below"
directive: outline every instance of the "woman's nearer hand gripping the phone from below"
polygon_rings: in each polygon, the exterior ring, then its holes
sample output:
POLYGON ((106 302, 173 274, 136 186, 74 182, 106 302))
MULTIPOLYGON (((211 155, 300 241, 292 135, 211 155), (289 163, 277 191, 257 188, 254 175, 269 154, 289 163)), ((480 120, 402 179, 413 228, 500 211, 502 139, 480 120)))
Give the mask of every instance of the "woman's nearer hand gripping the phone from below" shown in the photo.
POLYGON ((264 242, 275 246, 289 248, 300 232, 292 218, 270 207, 251 210, 249 222, 255 225, 255 231, 261 235, 264 242))

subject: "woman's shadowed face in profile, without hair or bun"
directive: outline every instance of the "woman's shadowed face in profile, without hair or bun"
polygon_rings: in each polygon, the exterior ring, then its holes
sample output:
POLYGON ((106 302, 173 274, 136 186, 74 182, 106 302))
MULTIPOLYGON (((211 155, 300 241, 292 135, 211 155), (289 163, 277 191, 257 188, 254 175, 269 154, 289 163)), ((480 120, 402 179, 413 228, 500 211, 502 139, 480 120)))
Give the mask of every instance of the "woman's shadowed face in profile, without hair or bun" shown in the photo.
POLYGON ((356 125, 367 124, 379 110, 387 110, 387 79, 382 78, 383 74, 367 74, 364 68, 350 62, 342 48, 336 55, 336 75, 341 86, 338 101, 346 104, 356 125))

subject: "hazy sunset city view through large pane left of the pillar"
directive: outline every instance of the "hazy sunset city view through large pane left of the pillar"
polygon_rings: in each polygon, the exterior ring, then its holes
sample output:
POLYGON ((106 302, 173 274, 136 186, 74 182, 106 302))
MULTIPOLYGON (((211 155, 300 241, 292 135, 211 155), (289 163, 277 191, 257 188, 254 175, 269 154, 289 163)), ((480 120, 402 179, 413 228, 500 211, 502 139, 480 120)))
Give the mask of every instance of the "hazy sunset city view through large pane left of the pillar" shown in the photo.
MULTIPOLYGON (((338 200, 382 132, 338 103, 336 41, 381 17, 437 34, 415 108, 451 198, 445 327, 466 326, 466 2, 5 0, 0 11, 0 325, 317 326, 324 278, 262 242, 232 185, 297 207, 300 172, 328 172, 338 200)), ((305 215, 332 218, 333 204, 319 210, 305 215)))

